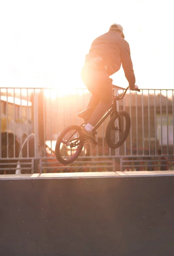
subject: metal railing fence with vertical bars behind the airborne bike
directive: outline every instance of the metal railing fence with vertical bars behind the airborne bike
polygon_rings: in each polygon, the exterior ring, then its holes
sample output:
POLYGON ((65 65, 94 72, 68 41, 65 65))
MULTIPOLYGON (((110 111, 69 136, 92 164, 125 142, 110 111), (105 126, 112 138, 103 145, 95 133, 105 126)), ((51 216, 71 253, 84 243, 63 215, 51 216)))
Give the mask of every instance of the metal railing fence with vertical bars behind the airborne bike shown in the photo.
POLYGON ((77 113, 89 98, 86 89, 0 88, 0 174, 173 170, 174 90, 166 89, 128 92, 118 102, 119 110, 131 117, 129 136, 120 148, 106 144, 108 117, 98 129, 98 145, 85 144, 70 166, 58 163, 57 137, 68 125, 82 122, 77 113))

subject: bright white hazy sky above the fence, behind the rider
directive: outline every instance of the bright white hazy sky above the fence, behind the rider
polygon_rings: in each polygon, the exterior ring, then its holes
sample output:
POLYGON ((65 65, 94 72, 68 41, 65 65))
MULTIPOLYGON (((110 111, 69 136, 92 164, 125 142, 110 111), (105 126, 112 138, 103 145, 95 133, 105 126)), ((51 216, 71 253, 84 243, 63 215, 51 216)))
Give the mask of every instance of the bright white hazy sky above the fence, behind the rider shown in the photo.
MULTIPOLYGON (((173 89, 171 0, 0 0, 0 87, 84 87, 92 41, 120 23, 139 88, 173 89)), ((122 68, 113 84, 127 87, 122 68)))

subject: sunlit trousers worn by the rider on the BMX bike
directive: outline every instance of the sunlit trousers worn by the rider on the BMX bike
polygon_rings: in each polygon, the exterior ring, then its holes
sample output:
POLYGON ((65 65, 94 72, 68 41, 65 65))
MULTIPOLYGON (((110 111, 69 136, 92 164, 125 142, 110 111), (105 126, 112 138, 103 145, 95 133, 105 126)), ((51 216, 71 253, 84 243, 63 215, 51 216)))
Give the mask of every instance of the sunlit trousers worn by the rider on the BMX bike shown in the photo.
POLYGON ((81 78, 92 94, 87 108, 91 107, 94 111, 88 123, 95 126, 113 102, 112 79, 105 71, 90 67, 88 64, 84 64, 81 78))

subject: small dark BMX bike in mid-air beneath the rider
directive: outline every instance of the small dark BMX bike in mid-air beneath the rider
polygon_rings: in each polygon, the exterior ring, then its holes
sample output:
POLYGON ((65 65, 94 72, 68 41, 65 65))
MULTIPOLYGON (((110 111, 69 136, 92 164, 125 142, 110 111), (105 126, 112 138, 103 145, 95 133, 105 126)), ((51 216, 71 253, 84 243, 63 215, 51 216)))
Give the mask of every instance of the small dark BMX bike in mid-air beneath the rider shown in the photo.
MULTIPOLYGON (((93 127, 92 132, 97 134, 96 130, 104 122, 104 120, 110 116, 110 121, 106 128, 106 143, 110 148, 119 148, 127 139, 130 128, 131 128, 131 118, 128 112, 124 110, 117 111, 116 102, 123 99, 129 87, 122 88, 113 85, 113 88, 125 90, 121 97, 114 96, 113 103, 110 108, 102 116, 99 122, 93 127)), ((137 88, 137 91, 140 90, 137 88)), ((56 146, 55 146, 55 156, 60 163, 70 164, 73 163, 78 156, 81 154, 84 143, 89 142, 89 140, 84 140, 81 137, 81 129, 87 124, 87 119, 91 114, 91 109, 87 108, 84 111, 78 113, 79 117, 84 119, 81 125, 70 125, 65 128, 59 135, 56 146)))

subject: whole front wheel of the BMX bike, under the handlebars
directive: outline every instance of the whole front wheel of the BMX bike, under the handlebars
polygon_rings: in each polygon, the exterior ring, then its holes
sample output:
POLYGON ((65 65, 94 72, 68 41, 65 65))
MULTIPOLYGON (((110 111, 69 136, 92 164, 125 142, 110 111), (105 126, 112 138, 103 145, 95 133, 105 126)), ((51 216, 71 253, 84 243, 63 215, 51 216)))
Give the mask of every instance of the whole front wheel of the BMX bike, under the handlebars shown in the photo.
POLYGON ((127 139, 130 128, 131 118, 126 111, 119 111, 114 114, 108 122, 106 128, 106 143, 110 148, 119 148, 127 139), (121 127, 119 127, 119 115, 121 127))

